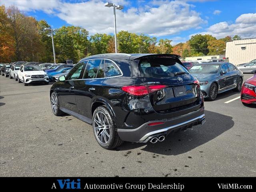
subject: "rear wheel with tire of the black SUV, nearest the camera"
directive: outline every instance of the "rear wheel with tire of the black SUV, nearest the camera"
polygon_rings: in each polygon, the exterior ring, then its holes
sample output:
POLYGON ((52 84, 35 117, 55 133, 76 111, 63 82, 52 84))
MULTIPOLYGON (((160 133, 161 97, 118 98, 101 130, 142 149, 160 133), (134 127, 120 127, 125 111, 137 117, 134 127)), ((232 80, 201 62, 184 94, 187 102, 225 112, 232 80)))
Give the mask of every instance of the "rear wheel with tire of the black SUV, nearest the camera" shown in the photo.
POLYGON ((113 115, 105 105, 99 106, 94 111, 92 116, 92 128, 96 141, 102 148, 110 150, 123 143, 118 136, 113 115))

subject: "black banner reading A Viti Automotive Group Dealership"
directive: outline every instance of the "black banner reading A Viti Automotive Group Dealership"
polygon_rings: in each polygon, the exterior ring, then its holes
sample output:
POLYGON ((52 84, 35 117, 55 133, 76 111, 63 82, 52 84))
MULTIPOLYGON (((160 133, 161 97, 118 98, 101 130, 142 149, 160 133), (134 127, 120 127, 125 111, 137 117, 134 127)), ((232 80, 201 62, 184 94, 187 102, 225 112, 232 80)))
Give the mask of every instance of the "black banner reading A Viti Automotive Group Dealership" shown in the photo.
POLYGON ((175 177, 175 178, 128 178, 128 177, 2 177, 1 187, 9 190, 252 190, 255 178, 175 177))

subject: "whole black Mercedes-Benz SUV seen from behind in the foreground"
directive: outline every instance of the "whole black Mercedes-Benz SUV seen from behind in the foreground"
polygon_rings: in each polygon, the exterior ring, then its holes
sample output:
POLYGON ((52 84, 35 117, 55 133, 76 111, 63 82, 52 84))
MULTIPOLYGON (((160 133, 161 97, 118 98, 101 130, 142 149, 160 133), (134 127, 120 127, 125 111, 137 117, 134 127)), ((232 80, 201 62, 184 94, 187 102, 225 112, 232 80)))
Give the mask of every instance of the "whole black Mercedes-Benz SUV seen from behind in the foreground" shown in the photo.
POLYGON ((100 54, 84 58, 50 89, 52 112, 92 124, 106 149, 123 141, 163 141, 205 122, 198 80, 174 54, 100 54))

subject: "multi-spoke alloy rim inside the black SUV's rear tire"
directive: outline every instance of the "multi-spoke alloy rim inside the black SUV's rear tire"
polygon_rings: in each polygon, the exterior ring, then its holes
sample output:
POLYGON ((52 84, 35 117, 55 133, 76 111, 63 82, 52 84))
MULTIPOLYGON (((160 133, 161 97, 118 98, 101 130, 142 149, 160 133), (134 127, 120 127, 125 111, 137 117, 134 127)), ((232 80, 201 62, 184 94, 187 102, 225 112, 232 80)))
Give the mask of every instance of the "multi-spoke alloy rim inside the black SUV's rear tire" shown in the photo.
POLYGON ((98 112, 93 123, 97 140, 102 144, 108 143, 111 130, 107 116, 103 112, 98 112))

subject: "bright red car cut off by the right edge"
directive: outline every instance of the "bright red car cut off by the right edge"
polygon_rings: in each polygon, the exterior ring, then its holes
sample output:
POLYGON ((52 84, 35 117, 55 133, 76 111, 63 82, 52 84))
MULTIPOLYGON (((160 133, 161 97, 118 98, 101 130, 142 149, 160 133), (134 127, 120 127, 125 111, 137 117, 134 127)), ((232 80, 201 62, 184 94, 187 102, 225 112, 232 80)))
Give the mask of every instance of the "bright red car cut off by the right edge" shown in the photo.
POLYGON ((241 101, 243 104, 256 104, 256 74, 244 82, 241 90, 241 101))

